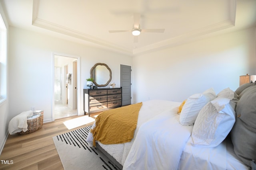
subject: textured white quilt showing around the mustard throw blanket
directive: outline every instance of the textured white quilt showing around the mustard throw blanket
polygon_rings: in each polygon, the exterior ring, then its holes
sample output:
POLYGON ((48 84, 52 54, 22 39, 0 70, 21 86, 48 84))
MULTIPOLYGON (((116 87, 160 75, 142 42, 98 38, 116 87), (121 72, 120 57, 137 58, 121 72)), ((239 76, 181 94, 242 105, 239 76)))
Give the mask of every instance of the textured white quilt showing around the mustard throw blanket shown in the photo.
MULTIPOLYGON (((160 115, 164 111, 171 111, 174 109, 174 112, 177 113, 178 106, 180 106, 180 102, 171 102, 166 100, 150 100, 142 103, 142 107, 139 111, 138 123, 136 130, 134 132, 134 137, 136 137, 140 126, 147 122, 150 119, 160 115)), ((94 124, 95 125, 95 124, 94 124)), ((94 125, 92 128, 94 128, 94 125)), ((98 144, 108 152, 111 156, 113 156, 120 164, 124 164, 128 153, 134 143, 135 139, 132 139, 131 142, 121 143, 121 144, 113 144, 113 145, 103 145, 98 142, 98 144)), ((93 136, 92 133, 88 134, 86 139, 87 143, 92 147, 93 136)))

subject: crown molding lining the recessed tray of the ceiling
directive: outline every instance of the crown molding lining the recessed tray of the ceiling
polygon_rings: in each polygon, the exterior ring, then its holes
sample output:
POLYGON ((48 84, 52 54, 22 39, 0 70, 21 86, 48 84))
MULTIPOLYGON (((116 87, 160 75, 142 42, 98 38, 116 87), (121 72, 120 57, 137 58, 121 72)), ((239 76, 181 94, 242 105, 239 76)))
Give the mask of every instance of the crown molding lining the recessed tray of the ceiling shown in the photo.
POLYGON ((57 33, 62 33, 64 35, 68 35, 78 39, 82 39, 84 41, 88 41, 90 43, 100 45, 102 47, 105 47, 114 51, 119 51, 120 53, 125 53, 129 55, 139 55, 139 54, 149 53, 149 52, 157 51, 160 49, 174 47, 184 43, 200 40, 206 37, 206 35, 208 34, 214 33, 216 31, 221 31, 226 28, 234 27, 235 19, 236 19, 236 0, 230 0, 230 8, 229 8, 230 11, 229 11, 228 20, 215 23, 212 25, 208 25, 206 27, 196 29, 189 33, 186 33, 177 37, 173 37, 165 41, 154 43, 145 47, 136 48, 131 51, 130 49, 127 49, 125 47, 120 47, 114 43, 104 41, 97 37, 94 37, 73 29, 69 29, 67 27, 63 27, 61 25, 58 25, 46 20, 42 20, 38 18, 38 8, 39 8, 39 0, 33 0, 32 25, 41 27, 44 29, 48 29, 50 31, 54 31, 57 33))

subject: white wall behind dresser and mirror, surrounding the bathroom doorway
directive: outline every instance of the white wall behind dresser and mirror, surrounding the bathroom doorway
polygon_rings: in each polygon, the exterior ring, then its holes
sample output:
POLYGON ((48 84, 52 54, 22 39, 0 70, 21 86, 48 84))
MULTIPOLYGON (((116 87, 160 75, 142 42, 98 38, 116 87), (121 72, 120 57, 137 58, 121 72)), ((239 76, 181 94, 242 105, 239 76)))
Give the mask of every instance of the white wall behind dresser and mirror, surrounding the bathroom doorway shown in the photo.
POLYGON ((120 86, 120 64, 132 64, 131 57, 120 53, 15 27, 10 27, 9 39, 10 119, 35 107, 44 110, 44 122, 52 120, 52 52, 80 57, 80 113, 83 113, 83 88, 94 64, 106 63, 117 86, 120 86))

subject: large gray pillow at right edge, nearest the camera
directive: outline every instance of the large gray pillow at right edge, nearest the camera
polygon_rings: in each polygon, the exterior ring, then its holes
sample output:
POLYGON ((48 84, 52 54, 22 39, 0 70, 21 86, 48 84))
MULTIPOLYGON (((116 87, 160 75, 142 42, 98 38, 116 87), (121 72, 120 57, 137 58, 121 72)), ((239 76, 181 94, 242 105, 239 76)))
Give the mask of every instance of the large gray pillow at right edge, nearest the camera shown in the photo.
POLYGON ((256 160, 256 85, 250 86, 238 101, 230 134, 236 155, 251 166, 251 161, 256 160))

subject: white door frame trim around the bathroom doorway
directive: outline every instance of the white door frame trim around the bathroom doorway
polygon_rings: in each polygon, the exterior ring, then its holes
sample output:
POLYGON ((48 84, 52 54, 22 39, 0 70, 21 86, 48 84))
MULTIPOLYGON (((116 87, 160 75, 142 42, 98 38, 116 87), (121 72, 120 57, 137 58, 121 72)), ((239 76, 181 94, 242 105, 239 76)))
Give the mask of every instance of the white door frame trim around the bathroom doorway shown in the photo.
POLYGON ((55 55, 60 55, 60 56, 64 56, 64 57, 70 57, 70 58, 74 58, 77 59, 77 115, 83 115, 83 113, 80 112, 80 57, 79 56, 75 56, 75 55, 67 55, 67 54, 62 54, 62 53, 56 53, 56 52, 52 52, 52 121, 55 120, 54 118, 54 66, 55 66, 55 61, 54 61, 54 56, 55 55))

